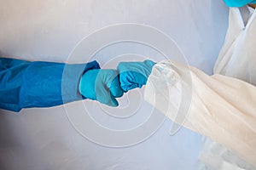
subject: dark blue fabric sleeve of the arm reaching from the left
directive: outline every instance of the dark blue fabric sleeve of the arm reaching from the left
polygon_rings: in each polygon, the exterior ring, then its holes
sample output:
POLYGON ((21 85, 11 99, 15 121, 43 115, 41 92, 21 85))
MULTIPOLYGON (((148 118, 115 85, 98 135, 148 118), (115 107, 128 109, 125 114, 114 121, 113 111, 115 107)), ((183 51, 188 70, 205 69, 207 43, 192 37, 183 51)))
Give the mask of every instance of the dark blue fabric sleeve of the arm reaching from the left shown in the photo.
POLYGON ((20 111, 22 108, 51 107, 84 99, 79 94, 79 79, 85 71, 99 69, 96 61, 86 64, 64 64, 44 61, 1 58, 0 108, 20 111))

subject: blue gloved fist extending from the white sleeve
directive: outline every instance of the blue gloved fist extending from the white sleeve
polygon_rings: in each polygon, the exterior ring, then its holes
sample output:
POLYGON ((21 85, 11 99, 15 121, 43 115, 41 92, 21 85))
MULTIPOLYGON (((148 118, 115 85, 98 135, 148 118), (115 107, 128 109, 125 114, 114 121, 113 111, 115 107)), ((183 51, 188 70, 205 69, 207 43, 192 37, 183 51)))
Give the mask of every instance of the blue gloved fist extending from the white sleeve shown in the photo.
POLYGON ((143 62, 120 62, 118 65, 119 82, 124 92, 133 88, 142 88, 154 66, 152 60, 143 62))

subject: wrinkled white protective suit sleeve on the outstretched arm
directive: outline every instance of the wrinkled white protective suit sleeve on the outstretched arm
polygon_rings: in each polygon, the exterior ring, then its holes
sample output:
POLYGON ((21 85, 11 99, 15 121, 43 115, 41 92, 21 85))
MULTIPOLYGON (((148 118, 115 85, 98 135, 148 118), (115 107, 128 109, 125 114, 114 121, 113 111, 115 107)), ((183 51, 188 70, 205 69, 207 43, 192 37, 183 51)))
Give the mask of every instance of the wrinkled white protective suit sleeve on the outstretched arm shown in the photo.
POLYGON ((256 167, 256 87, 252 84, 208 76, 165 60, 154 65, 144 98, 173 122, 223 144, 256 167), (186 115, 184 120, 177 119, 177 112, 186 115))

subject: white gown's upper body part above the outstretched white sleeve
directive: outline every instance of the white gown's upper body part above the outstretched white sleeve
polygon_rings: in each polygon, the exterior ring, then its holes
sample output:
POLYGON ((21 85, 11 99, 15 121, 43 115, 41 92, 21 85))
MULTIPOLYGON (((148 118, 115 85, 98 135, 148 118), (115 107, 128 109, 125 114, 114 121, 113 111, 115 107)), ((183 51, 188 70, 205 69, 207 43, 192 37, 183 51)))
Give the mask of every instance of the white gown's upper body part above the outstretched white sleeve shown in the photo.
POLYGON ((252 8, 230 8, 229 28, 214 73, 256 85, 255 15, 252 8))

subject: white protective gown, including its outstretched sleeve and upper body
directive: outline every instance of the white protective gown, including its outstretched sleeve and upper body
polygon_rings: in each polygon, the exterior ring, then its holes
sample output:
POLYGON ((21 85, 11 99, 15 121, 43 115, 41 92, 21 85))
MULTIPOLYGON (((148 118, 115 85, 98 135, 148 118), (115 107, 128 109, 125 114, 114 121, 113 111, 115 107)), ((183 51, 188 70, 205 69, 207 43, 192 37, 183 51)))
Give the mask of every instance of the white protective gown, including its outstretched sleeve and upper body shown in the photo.
POLYGON ((256 167, 256 19, 251 12, 250 19, 242 20, 240 9, 230 8, 213 76, 162 61, 148 77, 144 98, 173 122, 223 144, 256 167), (186 117, 184 122, 177 113, 186 117))

